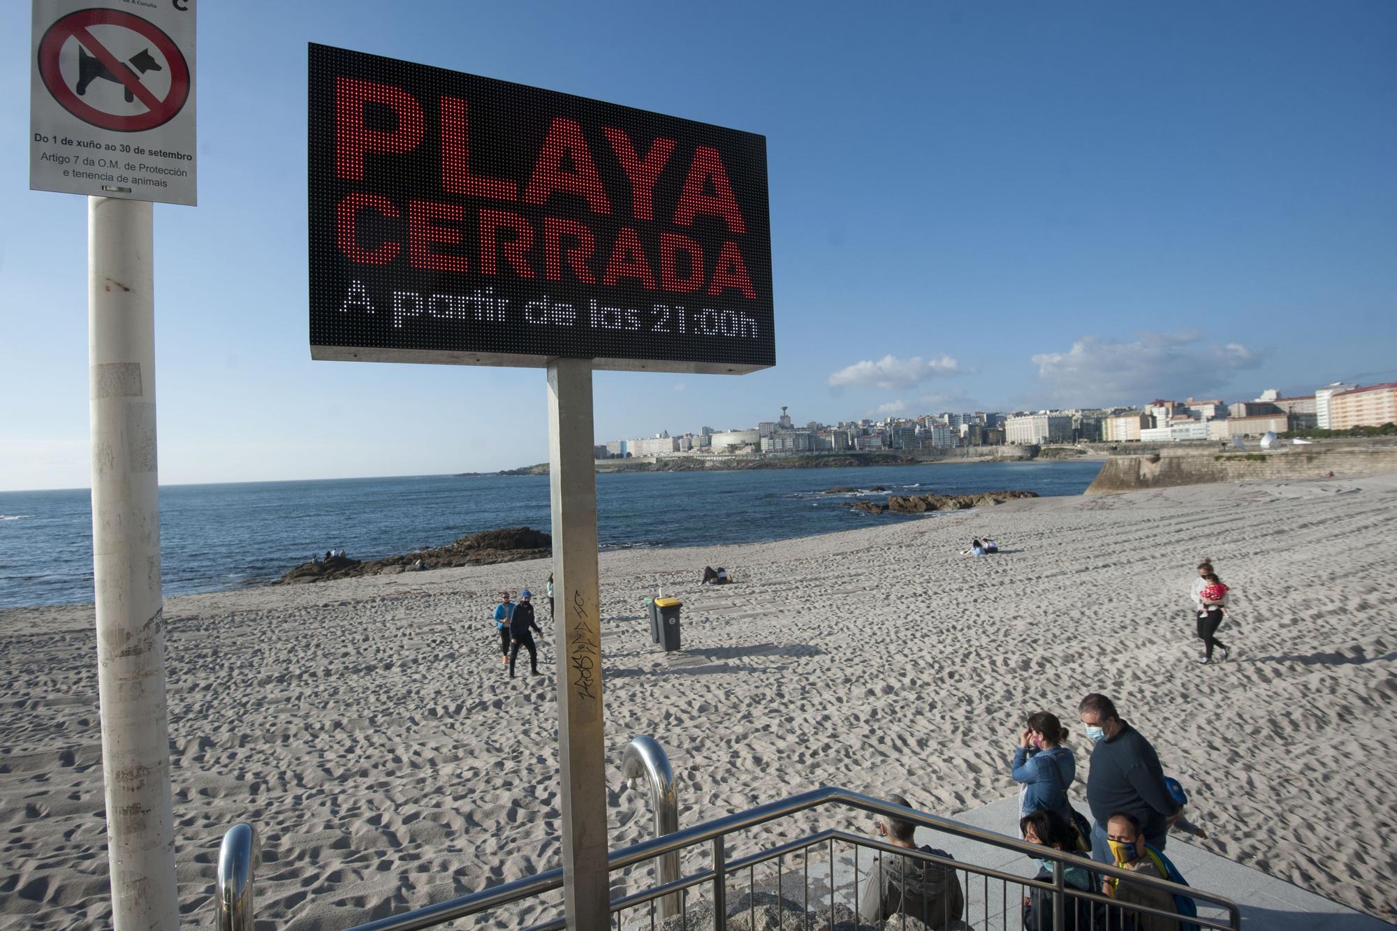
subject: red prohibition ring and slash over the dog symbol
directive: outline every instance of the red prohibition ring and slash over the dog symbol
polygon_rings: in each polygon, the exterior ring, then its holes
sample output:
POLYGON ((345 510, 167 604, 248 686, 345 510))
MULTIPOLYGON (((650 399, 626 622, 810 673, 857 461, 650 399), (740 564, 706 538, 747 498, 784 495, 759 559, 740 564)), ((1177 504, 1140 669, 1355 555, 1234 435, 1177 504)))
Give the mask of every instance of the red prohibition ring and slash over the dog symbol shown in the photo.
POLYGON ((175 119, 175 115, 184 109, 184 103, 189 101, 189 63, 184 62, 184 56, 180 53, 179 46, 175 45, 175 41, 165 35, 154 22, 120 10, 78 10, 50 25, 47 32, 43 34, 43 39, 39 41, 39 77, 43 78, 43 85, 49 88, 53 99, 68 113, 73 113, 73 116, 84 123, 117 133, 138 133, 163 126, 175 119), (126 64, 87 31, 92 25, 124 27, 145 36, 151 45, 159 49, 170 68, 170 89, 163 101, 141 85, 140 80, 131 74, 126 64), (92 57, 102 62, 116 75, 117 81, 141 101, 147 112, 134 116, 108 113, 80 98, 67 85, 63 80, 63 73, 59 70, 59 52, 61 52, 63 45, 70 38, 77 39, 92 57))

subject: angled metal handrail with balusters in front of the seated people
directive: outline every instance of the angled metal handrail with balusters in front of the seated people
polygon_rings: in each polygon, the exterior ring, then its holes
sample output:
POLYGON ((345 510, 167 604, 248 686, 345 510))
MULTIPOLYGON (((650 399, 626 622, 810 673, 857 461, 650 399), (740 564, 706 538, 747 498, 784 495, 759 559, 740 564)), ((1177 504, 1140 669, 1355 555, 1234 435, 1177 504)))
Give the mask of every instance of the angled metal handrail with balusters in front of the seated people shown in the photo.
MULTIPOLYGON (((954 837, 964 837, 967 840, 974 840, 978 843, 989 844, 992 847, 1000 847, 1003 850, 1011 850, 1021 853, 1030 858, 1038 860, 1052 860, 1055 882, 1052 886, 1045 886, 1051 889, 1055 895, 1055 911, 1060 909, 1060 902, 1063 896, 1070 896, 1074 890, 1066 886, 1063 882, 1063 865, 1065 864, 1080 864, 1081 860, 1076 854, 1065 853, 1052 847, 1042 847, 1039 844, 1031 844, 1016 837, 1009 837, 1006 835, 999 835, 992 830, 982 830, 979 828, 971 828, 954 822, 949 818, 942 818, 939 815, 929 815, 926 812, 919 812, 914 808, 904 808, 902 805, 894 805, 883 801, 882 798, 873 798, 872 795, 863 795, 859 793, 849 791, 847 788, 838 788, 827 786, 823 788, 816 788, 807 793, 800 793, 799 795, 791 795, 789 798, 782 798, 774 802, 767 802, 766 805, 757 805, 756 808, 749 808, 747 811, 736 812, 732 815, 725 815, 722 818, 715 818, 707 821, 701 825, 694 825, 692 828, 685 828, 683 830, 676 830, 672 835, 664 837, 655 837, 654 840, 643 840, 630 847, 613 851, 609 857, 609 869, 620 869, 624 867, 643 863, 645 860, 652 860, 662 854, 678 853, 685 847, 692 847, 703 843, 712 843, 714 849, 714 869, 712 883, 714 883, 714 900, 715 904, 721 904, 726 897, 725 879, 726 875, 736 867, 731 867, 724 861, 724 843, 722 839, 738 830, 745 830, 749 828, 756 828, 764 825, 768 821, 777 818, 785 818, 810 808, 817 808, 827 804, 841 804, 849 808, 858 808, 875 815, 884 815, 894 818, 897 821, 911 822, 923 828, 930 828, 942 833, 951 835, 954 837)), ((861 842, 868 846, 868 842, 861 842)), ((900 854, 914 856, 914 851, 898 849, 900 854)), ((965 868, 967 864, 957 864, 958 868, 965 868)), ((1169 882, 1168 879, 1158 879, 1155 876, 1148 876, 1143 874, 1133 872, 1130 869, 1122 869, 1120 867, 1092 863, 1091 871, 1102 876, 1113 876, 1118 879, 1129 879, 1133 883, 1151 886, 1155 889, 1162 889, 1171 895, 1179 893, 1186 895, 1196 900, 1203 900, 1227 910, 1228 921, 1232 928, 1242 927, 1242 913, 1236 903, 1231 899, 1213 895, 1210 892, 1203 892, 1201 889, 1193 886, 1180 886, 1169 882)), ((982 868, 977 867, 975 872, 982 872, 982 868)), ((1024 885, 1041 883, 1035 881, 1017 879, 1024 885)), ((439 902, 433 906, 426 906, 423 909, 414 909, 412 911, 405 911, 398 916, 390 916, 379 921, 358 925, 352 931, 415 931, 416 928, 427 928, 436 924, 453 918, 464 918, 479 911, 485 911, 492 907, 502 904, 509 904, 511 902, 518 902, 521 899, 528 899, 545 892, 552 892, 563 885, 563 871, 549 869, 548 872, 539 874, 536 876, 528 876, 524 879, 517 879, 493 889, 485 889, 481 892, 474 892, 457 899, 450 899, 447 902, 439 902)), ((692 883, 686 883, 692 885, 692 883)), ((648 896, 648 893, 643 893, 648 896)), ((669 895, 669 892, 657 893, 669 895)), ((641 899, 644 900, 644 897, 641 899)), ((1134 906, 1132 906, 1134 907, 1134 906)), ((715 918, 722 920, 722 910, 715 909, 715 918)), ((1060 925, 1059 925, 1060 927, 1060 925)))

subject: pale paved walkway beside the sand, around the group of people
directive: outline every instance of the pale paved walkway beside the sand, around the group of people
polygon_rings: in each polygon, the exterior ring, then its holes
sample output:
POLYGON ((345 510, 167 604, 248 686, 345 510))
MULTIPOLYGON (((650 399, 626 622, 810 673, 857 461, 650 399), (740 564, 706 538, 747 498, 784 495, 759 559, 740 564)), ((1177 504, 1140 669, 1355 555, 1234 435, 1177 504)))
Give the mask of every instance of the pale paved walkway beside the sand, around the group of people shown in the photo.
MULTIPOLYGON (((956 821, 1017 837, 1018 800, 1006 798, 985 808, 963 812, 956 815, 956 821)), ((919 829, 916 835, 918 843, 942 847, 957 860, 993 867, 1021 876, 1032 876, 1037 872, 1037 867, 1018 854, 936 835, 925 829, 919 829)), ((1178 836, 1169 839, 1168 854, 1192 885, 1227 896, 1241 904, 1242 927, 1248 931, 1391 931, 1393 927, 1397 927, 1330 902, 1323 896, 1305 892, 1250 867, 1192 847, 1182 843, 1178 836)), ((1018 927, 1017 910, 1010 909, 1007 916, 1000 917, 1003 911, 995 904, 993 899, 996 897, 989 896, 988 909, 983 904, 972 907, 972 913, 967 916, 971 925, 981 927, 981 923, 988 918, 992 927, 1000 927, 1002 923, 1013 928, 1018 927)), ((975 906, 977 902, 972 899, 971 904, 975 906)))

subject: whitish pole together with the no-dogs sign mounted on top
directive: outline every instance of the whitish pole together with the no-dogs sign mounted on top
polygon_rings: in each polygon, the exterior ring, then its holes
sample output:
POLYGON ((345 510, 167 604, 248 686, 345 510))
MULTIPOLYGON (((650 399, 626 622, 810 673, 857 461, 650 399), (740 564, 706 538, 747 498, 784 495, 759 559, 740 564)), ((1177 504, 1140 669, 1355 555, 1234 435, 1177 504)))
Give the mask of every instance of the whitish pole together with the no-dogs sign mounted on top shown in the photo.
POLYGON ((34 0, 31 53, 29 187, 88 194, 92 576, 112 924, 173 931, 151 201, 197 200, 194 0, 34 0))

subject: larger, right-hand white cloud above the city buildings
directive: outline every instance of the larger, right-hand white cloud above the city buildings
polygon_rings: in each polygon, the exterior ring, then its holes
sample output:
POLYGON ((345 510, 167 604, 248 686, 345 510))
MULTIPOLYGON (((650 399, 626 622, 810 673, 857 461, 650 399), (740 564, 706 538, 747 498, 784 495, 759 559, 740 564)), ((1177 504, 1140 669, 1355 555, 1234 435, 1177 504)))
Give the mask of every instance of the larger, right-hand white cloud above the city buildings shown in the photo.
POLYGON ((1084 335, 1066 352, 1032 356, 1058 404, 1141 403, 1154 397, 1207 397, 1261 358, 1239 342, 1197 331, 1141 333, 1132 342, 1084 335))

